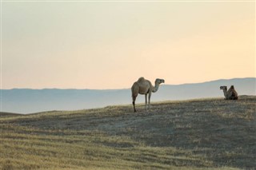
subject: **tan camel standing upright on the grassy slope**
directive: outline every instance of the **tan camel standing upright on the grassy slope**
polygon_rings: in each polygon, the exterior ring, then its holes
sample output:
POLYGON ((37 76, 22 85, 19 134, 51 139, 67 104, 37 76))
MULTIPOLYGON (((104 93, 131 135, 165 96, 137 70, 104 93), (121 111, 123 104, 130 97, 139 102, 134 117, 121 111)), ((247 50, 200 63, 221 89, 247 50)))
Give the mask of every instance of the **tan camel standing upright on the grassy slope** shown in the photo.
POLYGON ((151 84, 150 81, 146 80, 144 77, 140 77, 138 79, 138 81, 134 82, 134 85, 131 87, 131 93, 132 93, 132 97, 133 97, 133 105, 134 105, 134 113, 137 112, 136 108, 135 108, 135 100, 136 97, 138 96, 138 94, 144 94, 145 95, 145 108, 147 110, 147 108, 149 107, 150 109, 150 97, 151 97, 151 93, 155 93, 158 91, 159 85, 161 83, 164 83, 165 80, 157 78, 154 81, 154 86, 151 84), (147 94, 149 94, 149 102, 147 103, 147 94))

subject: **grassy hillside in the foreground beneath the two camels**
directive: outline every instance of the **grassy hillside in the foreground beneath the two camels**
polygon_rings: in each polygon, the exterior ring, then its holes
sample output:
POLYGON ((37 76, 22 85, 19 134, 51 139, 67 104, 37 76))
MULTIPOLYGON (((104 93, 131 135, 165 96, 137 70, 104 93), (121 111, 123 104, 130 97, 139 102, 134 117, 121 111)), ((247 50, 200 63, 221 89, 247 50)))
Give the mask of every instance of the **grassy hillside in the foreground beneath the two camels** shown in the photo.
POLYGON ((256 97, 0 117, 0 169, 256 168, 256 97))

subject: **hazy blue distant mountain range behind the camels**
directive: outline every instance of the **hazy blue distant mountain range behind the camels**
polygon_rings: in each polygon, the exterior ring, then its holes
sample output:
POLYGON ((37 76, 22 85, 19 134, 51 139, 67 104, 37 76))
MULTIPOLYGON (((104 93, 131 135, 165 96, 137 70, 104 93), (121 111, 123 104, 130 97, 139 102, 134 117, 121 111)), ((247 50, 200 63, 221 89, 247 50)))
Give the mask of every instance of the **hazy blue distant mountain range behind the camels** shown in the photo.
MULTIPOLYGON (((256 78, 234 78, 183 85, 161 85, 151 102, 224 97, 221 85, 234 85, 238 95, 256 95, 256 78)), ((2 110, 7 113, 38 113, 50 110, 93 109, 131 104, 130 89, 1 89, 2 110)), ((137 97, 144 102, 144 96, 137 97)))

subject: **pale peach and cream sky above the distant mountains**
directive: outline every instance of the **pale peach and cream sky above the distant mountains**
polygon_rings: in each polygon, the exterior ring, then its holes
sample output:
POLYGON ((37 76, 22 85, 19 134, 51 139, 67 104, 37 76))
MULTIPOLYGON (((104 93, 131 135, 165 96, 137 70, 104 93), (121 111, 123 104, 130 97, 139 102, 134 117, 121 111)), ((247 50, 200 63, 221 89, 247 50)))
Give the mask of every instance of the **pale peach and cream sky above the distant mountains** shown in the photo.
POLYGON ((1 4, 2 89, 256 77, 253 1, 1 4))

